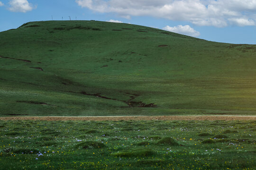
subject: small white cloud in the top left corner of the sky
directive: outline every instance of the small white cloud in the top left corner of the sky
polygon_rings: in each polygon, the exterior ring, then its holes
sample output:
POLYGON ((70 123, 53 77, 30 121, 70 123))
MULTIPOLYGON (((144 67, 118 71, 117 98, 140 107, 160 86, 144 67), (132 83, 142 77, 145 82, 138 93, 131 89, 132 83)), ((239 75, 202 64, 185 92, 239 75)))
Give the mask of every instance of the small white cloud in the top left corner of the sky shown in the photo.
POLYGON ((27 12, 31 11, 32 9, 36 8, 27 0, 10 0, 9 1, 9 11, 12 12, 27 12))

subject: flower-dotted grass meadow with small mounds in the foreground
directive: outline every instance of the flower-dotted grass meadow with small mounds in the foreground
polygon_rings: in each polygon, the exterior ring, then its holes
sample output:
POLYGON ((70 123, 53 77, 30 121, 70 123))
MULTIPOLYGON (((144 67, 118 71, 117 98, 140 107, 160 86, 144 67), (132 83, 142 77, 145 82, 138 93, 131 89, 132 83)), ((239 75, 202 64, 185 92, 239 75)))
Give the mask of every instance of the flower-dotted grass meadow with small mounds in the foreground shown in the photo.
POLYGON ((2 121, 1 170, 254 170, 256 121, 2 121))

